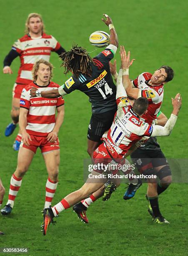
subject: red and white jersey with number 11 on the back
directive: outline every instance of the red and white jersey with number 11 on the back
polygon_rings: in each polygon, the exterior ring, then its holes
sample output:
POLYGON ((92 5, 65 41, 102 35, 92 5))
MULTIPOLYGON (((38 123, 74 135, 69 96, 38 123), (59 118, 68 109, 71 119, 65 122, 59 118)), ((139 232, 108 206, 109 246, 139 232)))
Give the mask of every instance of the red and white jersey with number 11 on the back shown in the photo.
POLYGON ((114 159, 123 157, 129 148, 144 136, 151 136, 153 126, 142 122, 134 113, 127 97, 116 100, 118 110, 113 124, 101 140, 114 159))

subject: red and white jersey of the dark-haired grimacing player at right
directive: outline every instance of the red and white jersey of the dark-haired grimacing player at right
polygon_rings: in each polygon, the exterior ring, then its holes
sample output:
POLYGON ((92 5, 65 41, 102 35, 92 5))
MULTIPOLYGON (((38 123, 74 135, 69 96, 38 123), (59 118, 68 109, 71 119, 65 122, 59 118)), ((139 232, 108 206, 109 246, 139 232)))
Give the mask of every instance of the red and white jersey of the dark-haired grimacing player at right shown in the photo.
POLYGON ((148 99, 148 112, 142 116, 141 120, 144 120, 149 124, 152 124, 153 120, 157 117, 160 106, 163 102, 164 91, 163 84, 156 86, 148 84, 148 80, 150 80, 151 77, 152 74, 144 72, 133 81, 135 87, 142 90, 141 96, 148 99))

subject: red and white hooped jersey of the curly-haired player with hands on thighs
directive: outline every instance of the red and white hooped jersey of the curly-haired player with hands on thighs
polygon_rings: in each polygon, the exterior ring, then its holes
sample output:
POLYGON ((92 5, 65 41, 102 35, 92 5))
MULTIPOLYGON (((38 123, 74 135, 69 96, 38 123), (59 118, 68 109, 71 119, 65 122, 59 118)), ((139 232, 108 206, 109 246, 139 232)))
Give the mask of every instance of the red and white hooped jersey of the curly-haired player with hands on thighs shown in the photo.
POLYGON ((47 86, 38 86, 34 82, 28 84, 22 91, 20 108, 27 108, 26 131, 31 135, 47 137, 55 126, 55 109, 64 104, 62 97, 47 99, 43 97, 30 98, 31 87, 37 87, 39 91, 57 89, 58 84, 50 82, 47 86))

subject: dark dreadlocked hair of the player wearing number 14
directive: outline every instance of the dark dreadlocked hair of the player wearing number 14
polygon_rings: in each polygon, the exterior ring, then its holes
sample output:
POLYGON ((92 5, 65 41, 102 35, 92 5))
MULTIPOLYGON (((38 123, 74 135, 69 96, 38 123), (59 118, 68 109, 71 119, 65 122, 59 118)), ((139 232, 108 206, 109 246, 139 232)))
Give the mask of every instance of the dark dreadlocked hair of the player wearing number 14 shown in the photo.
POLYGON ((65 67, 64 74, 73 72, 75 77, 78 77, 80 73, 91 76, 92 69, 90 63, 94 64, 94 62, 83 47, 74 44, 73 48, 61 54, 60 58, 63 60, 61 67, 65 67))

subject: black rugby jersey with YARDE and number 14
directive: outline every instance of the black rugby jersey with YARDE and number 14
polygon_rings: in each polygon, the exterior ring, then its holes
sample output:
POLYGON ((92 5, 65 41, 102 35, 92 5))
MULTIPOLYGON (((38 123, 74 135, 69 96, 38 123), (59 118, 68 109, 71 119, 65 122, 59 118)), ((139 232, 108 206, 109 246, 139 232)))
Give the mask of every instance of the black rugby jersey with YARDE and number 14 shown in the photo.
POLYGON ((100 52, 91 63, 91 77, 80 74, 78 78, 74 75, 64 84, 63 90, 66 93, 80 90, 89 97, 92 104, 92 112, 96 114, 104 113, 117 108, 115 101, 116 86, 110 74, 109 61, 113 59, 114 52, 108 47, 100 52))

